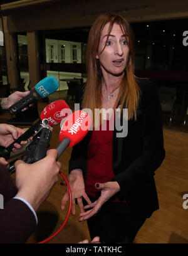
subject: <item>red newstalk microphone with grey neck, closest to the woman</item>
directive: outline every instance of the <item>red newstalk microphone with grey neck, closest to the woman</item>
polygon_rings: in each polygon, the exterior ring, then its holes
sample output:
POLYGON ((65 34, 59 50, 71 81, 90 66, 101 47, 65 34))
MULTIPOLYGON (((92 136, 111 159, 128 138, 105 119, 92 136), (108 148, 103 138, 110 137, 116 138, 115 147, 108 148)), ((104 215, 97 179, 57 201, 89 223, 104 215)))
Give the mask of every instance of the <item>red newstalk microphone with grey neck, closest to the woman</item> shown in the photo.
POLYGON ((83 110, 77 110, 65 120, 60 131, 61 143, 57 147, 58 157, 66 147, 73 147, 80 142, 88 133, 92 124, 90 115, 83 110))

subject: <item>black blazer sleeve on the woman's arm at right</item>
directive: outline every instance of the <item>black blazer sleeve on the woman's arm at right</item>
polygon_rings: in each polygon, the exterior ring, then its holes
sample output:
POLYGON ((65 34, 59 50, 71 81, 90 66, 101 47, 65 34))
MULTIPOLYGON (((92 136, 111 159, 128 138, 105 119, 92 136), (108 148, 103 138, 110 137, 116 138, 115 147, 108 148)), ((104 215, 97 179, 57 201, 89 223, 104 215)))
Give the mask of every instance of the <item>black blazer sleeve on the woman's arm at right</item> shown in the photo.
POLYGON ((142 154, 113 178, 113 181, 117 181, 120 185, 124 196, 136 191, 154 175, 165 157, 162 110, 156 87, 145 85, 142 97, 142 154))

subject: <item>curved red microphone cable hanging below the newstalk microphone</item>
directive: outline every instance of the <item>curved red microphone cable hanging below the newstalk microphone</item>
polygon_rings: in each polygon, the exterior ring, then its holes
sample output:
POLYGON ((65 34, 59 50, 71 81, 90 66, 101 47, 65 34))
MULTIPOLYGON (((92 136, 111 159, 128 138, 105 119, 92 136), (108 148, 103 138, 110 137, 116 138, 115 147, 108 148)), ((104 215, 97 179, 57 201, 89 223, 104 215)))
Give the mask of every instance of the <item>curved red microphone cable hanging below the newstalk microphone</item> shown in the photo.
POLYGON ((66 182, 66 185, 67 185, 67 188, 68 188, 68 194, 69 194, 69 207, 68 207, 68 213, 66 215, 66 218, 65 220, 63 221, 63 224, 61 225, 61 227, 53 234, 51 235, 50 237, 44 239, 43 241, 41 242, 38 242, 38 243, 46 243, 48 241, 50 241, 52 238, 54 238, 56 235, 58 235, 58 233, 61 232, 61 230, 65 227, 65 224, 66 222, 68 221, 68 218, 70 216, 70 212, 71 212, 71 205, 72 205, 72 196, 71 196, 71 189, 70 189, 70 184, 68 183, 68 180, 66 179, 65 175, 63 173, 61 173, 60 171, 60 175, 65 179, 65 182, 66 182))

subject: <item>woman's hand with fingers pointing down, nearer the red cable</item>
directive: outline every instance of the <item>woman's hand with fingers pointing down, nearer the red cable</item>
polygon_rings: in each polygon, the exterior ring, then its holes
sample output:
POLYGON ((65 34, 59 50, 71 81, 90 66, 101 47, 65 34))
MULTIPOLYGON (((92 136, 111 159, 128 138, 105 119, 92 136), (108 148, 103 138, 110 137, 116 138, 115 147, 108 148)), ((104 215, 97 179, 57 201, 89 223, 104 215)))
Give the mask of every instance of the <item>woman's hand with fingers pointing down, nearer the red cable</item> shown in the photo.
MULTIPOLYGON (((68 183, 70 184, 71 188, 71 195, 72 195, 72 207, 71 207, 71 213, 72 215, 75 215, 75 199, 78 202, 78 206, 80 207, 80 212, 84 213, 84 206, 82 197, 86 200, 88 204, 91 204, 90 198, 88 198, 88 195, 85 193, 85 183, 83 179, 83 173, 81 169, 75 169, 71 171, 71 173, 67 177, 68 183)), ((65 181, 61 184, 66 184, 65 181)), ((63 196, 63 199, 61 201, 61 209, 65 209, 66 201, 68 201, 68 191, 66 190, 65 195, 63 196)))

